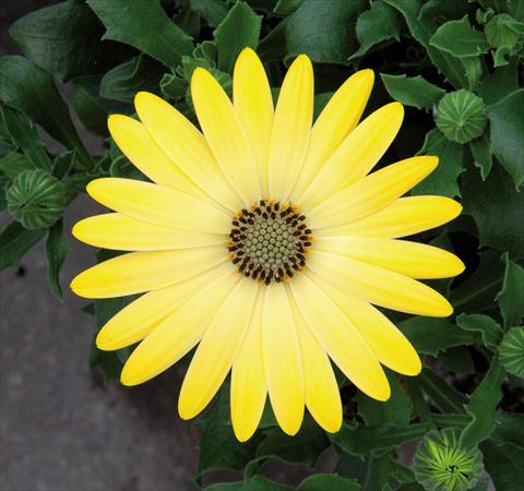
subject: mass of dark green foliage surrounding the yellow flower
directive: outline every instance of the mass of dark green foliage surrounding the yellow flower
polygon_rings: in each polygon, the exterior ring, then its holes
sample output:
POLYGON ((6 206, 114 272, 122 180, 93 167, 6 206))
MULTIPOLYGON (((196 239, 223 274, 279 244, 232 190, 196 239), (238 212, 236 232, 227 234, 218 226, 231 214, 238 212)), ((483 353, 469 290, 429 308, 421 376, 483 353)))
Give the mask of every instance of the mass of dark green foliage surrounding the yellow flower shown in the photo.
MULTIPOLYGON (((437 155, 438 169, 412 194, 446 195, 464 206, 461 218, 414 238, 465 262, 456 279, 430 282, 455 312, 445 320, 391 313, 421 356, 422 372, 388 371, 386 403, 341 378, 345 419, 335 434, 307 414, 298 434, 288 436, 267 404, 254 436, 239 443, 226 383, 195 423, 202 431, 195 481, 228 469, 242 478, 206 489, 286 491, 291 488, 262 476, 264 462, 314 472, 331 448, 333 471, 303 479, 298 491, 420 491, 417 478, 431 483, 413 471, 413 462, 401 460, 402 448, 436 431, 453 434, 461 448, 478 447, 496 489, 517 491, 524 480, 523 27, 517 0, 68 0, 37 10, 10 28, 25 57, 0 58, 0 209, 13 216, 0 232, 0 270, 16 266, 46 238, 49 286, 62 298, 66 207, 94 178, 146 179, 107 129, 110 113, 135 117, 138 92, 169 99, 194 122, 189 87, 195 68, 210 70, 230 95, 236 58, 249 46, 277 95, 286 67, 307 53, 317 118, 347 76, 371 68, 376 87, 367 113, 392 99, 406 106, 382 164, 437 155), (85 149, 79 121, 107 139, 103 155, 85 149), (63 148, 45 144, 43 131, 63 148)), ((95 336, 135 298, 87 306, 95 336)), ((91 366, 118 381, 131 350, 107 352, 93 344, 91 366)), ((473 489, 486 490, 486 483, 473 489)))

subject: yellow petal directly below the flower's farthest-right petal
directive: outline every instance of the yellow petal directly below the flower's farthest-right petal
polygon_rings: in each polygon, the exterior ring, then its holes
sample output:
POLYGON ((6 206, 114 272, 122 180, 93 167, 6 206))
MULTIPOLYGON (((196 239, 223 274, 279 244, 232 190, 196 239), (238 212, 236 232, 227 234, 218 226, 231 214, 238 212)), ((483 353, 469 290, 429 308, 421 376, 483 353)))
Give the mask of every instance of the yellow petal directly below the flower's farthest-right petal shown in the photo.
POLYGON ((386 309, 445 318, 453 308, 427 285, 373 264, 314 251, 308 267, 334 288, 386 309))

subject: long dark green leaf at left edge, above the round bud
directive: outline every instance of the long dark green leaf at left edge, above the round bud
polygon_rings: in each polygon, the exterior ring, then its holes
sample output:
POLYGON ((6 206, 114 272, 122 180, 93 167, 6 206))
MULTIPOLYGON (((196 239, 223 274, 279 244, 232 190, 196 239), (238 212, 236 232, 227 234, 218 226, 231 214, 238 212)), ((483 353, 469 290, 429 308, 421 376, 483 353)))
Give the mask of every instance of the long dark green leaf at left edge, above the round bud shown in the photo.
POLYGON ((67 148, 76 148, 80 160, 91 168, 91 156, 48 73, 22 57, 0 58, 0 99, 25 112, 67 148))

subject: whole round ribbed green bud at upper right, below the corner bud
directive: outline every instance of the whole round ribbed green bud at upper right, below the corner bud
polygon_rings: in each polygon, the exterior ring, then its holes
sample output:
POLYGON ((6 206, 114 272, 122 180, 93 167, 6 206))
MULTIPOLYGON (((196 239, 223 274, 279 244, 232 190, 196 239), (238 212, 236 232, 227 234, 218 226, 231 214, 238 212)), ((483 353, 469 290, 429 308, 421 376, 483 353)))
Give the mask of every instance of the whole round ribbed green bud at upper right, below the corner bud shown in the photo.
POLYGON ((487 121, 484 100, 464 88, 446 94, 437 107, 437 128, 453 142, 467 143, 480 136, 487 121))

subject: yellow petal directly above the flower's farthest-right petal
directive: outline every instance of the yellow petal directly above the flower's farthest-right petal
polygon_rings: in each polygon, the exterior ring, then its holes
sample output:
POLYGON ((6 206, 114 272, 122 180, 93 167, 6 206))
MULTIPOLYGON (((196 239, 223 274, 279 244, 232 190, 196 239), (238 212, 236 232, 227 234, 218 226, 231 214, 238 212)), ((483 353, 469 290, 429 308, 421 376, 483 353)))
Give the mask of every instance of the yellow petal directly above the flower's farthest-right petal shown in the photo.
POLYGON ((364 218, 322 230, 324 236, 395 238, 439 227, 458 216, 462 206, 444 196, 400 197, 364 218))

